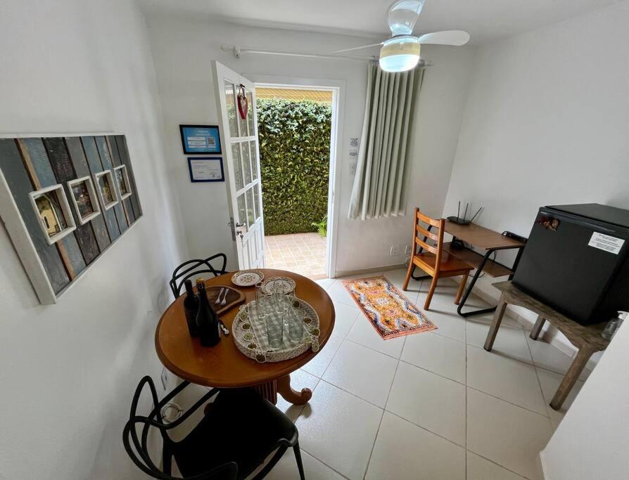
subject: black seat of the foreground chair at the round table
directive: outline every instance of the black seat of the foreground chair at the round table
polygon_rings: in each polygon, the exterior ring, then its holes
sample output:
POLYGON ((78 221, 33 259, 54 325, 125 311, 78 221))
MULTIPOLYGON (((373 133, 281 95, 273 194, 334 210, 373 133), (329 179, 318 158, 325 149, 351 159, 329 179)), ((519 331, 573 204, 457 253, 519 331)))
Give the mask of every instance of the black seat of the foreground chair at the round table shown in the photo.
POLYGON ((252 389, 225 389, 205 417, 176 444, 174 458, 184 476, 236 462, 239 478, 253 472, 279 439, 297 434, 293 422, 252 389))

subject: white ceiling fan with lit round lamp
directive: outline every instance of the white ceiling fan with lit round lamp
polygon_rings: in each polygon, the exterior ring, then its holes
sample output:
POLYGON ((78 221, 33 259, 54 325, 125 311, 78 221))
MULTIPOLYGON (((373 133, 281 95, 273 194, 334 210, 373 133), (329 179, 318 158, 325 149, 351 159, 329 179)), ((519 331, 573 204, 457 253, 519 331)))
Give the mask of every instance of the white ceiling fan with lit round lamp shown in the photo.
POLYGON ((334 53, 341 53, 360 48, 382 45, 380 49, 380 67, 385 72, 405 72, 419 63, 421 44, 439 44, 462 46, 469 41, 469 33, 462 30, 445 30, 413 36, 413 27, 426 0, 397 0, 388 9, 388 24, 391 38, 379 44, 345 48, 334 53))

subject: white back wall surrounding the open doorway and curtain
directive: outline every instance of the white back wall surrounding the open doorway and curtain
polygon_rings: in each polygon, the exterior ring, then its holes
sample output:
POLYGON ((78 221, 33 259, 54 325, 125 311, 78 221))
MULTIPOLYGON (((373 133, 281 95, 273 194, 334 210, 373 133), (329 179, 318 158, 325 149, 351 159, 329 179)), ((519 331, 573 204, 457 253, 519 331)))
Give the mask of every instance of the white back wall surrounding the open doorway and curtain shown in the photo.
MULTIPOLYGON (((366 89, 366 65, 352 61, 313 58, 253 56, 239 59, 220 50, 221 44, 295 51, 334 51, 361 44, 361 39, 333 34, 312 34, 291 30, 241 27, 198 18, 174 17, 172 13, 152 13, 147 18, 155 58, 166 135, 170 151, 170 178, 182 205, 182 220, 192 255, 233 252, 227 227, 229 214, 224 184, 191 184, 182 154, 179 124, 217 123, 210 60, 247 75, 273 75, 309 79, 333 79, 347 87, 343 108, 343 145, 339 202, 336 270, 353 271, 375 266, 400 264, 404 255, 390 257, 390 245, 409 242, 408 217, 369 221, 348 220, 353 177, 348 166, 348 141, 360 136, 366 89)), ((364 39, 373 44, 374 39, 364 39)), ((464 107, 471 48, 427 46, 422 50, 428 68, 419 95, 417 128, 412 145, 412 176, 409 208, 422 205, 430 214, 443 209, 450 178, 460 119, 464 107)), ((233 255, 230 267, 236 266, 233 255)))

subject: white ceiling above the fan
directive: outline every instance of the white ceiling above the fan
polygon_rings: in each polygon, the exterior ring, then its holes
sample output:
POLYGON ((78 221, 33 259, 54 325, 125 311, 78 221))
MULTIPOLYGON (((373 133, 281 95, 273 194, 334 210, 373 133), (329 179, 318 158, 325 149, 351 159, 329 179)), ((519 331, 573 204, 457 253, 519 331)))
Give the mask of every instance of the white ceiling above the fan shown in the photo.
MULTIPOLYGON (((147 13, 208 15, 244 25, 386 36, 392 0, 138 0, 147 13)), ((426 0, 415 34, 466 30, 473 44, 534 30, 621 0, 426 0)))

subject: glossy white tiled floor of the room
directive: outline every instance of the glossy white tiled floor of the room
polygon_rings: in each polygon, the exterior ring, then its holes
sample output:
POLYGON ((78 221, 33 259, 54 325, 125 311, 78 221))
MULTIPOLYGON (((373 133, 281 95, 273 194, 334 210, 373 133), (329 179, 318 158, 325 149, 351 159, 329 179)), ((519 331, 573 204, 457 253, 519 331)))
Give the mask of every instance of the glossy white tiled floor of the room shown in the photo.
MULTIPOLYGON (((401 290, 404 273, 383 274, 401 290)), ((334 301, 336 326, 291 375, 293 388, 313 390, 310 403, 278 403, 296 418, 307 479, 541 478, 538 453, 583 386, 558 412, 548 406, 571 358, 511 318, 493 351, 483 350, 491 314, 459 317, 447 280, 426 311, 438 330, 386 341, 341 280, 317 282, 334 301)), ((423 309, 427 290, 414 282, 405 294, 423 309)), ((469 305, 486 304, 471 296, 469 305)), ((292 452, 269 478, 298 478, 292 452)))

